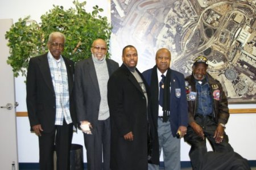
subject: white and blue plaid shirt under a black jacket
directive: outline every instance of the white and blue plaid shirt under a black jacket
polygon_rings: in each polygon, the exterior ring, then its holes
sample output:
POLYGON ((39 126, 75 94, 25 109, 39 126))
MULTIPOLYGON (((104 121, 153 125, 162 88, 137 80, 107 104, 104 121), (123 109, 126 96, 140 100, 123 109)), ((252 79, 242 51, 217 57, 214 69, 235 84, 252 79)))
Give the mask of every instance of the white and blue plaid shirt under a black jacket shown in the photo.
POLYGON ((64 59, 60 56, 60 59, 56 60, 50 52, 48 52, 47 57, 56 97, 55 125, 63 125, 64 117, 67 124, 71 124, 72 119, 69 112, 68 75, 64 59))

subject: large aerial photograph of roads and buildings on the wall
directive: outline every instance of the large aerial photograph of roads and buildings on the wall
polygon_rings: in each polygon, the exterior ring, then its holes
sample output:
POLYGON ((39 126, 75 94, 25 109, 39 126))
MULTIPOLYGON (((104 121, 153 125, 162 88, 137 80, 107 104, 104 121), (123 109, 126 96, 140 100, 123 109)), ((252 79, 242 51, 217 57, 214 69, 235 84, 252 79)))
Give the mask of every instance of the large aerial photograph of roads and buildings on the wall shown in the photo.
POLYGON ((112 0, 111 20, 112 58, 134 45, 144 71, 164 47, 171 68, 188 76, 203 55, 229 103, 256 103, 256 0, 112 0))

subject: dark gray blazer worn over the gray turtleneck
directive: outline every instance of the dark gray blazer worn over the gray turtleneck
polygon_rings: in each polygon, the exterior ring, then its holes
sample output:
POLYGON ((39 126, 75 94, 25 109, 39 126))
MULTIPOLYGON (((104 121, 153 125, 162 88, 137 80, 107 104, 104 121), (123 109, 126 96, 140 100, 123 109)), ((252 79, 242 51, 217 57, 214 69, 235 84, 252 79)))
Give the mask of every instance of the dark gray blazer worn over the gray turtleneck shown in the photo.
MULTIPOLYGON (((106 59, 109 76, 118 69, 119 65, 112 59, 106 59)), ((107 88, 107 87, 106 87, 107 88)), ((100 88, 92 57, 76 63, 75 67, 75 105, 77 121, 89 121, 97 126, 100 109, 100 88)))

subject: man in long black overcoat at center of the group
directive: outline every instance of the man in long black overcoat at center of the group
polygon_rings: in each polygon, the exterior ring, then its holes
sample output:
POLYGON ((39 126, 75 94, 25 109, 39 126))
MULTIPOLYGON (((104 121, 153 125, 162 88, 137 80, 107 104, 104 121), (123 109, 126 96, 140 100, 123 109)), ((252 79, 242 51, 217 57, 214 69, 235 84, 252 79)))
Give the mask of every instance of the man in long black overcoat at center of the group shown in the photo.
MULTIPOLYGON (((142 74, 136 69, 137 49, 132 45, 125 46, 122 60, 122 66, 110 76, 108 82, 111 122, 110 167, 112 170, 146 170, 148 125, 156 131, 152 138, 158 139, 156 127, 150 123, 149 91, 142 74)), ((156 155, 156 163, 159 163, 159 155, 156 155)))

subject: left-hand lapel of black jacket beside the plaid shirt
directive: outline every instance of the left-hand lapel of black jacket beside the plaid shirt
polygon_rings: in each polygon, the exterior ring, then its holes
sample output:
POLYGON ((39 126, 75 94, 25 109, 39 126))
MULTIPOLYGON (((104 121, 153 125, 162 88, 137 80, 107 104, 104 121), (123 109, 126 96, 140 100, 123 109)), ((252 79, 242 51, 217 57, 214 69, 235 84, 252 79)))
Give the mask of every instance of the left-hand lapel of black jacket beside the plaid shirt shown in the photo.
POLYGON ((52 92, 54 92, 47 54, 48 53, 44 54, 44 56, 40 58, 39 69, 42 73, 44 80, 46 81, 47 86, 49 87, 49 89, 51 89, 52 92))

